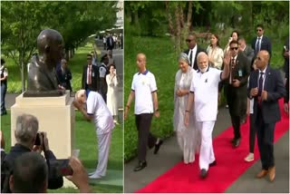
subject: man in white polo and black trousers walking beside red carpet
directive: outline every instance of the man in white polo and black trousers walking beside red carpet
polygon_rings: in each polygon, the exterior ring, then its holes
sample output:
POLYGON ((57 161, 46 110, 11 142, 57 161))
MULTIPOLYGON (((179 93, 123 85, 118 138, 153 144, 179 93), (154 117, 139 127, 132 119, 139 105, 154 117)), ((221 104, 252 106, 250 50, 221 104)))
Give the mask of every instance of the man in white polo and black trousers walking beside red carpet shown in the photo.
POLYGON ((153 113, 155 117, 160 117, 158 110, 157 86, 155 77, 146 70, 146 56, 144 53, 137 54, 137 66, 139 73, 135 73, 131 85, 131 93, 124 112, 127 118, 130 104, 135 97, 136 127, 138 130, 138 159, 139 163, 134 171, 139 171, 147 166, 146 147, 151 149, 155 146, 154 154, 160 150, 163 141, 155 138, 150 133, 150 125, 153 113))

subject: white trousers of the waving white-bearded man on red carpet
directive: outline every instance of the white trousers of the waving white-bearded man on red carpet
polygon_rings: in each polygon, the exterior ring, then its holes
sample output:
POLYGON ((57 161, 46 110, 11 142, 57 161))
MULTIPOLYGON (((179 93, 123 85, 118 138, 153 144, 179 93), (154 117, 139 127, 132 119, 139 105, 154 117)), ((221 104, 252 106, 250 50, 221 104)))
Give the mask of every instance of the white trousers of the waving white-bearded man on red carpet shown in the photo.
POLYGON ((212 131, 216 121, 197 121, 197 130, 201 133, 201 145, 199 152, 199 168, 200 170, 208 170, 208 165, 215 159, 212 147, 212 131))

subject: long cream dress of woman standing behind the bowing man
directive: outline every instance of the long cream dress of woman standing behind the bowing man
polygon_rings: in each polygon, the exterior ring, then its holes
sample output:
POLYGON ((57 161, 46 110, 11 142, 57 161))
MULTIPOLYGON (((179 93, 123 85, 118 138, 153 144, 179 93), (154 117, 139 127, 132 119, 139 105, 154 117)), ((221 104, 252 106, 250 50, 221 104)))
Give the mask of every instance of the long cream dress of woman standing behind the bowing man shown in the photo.
POLYGON ((107 106, 111 112, 111 115, 118 115, 118 79, 116 76, 111 78, 111 74, 107 74, 106 81, 108 84, 107 92, 107 106))

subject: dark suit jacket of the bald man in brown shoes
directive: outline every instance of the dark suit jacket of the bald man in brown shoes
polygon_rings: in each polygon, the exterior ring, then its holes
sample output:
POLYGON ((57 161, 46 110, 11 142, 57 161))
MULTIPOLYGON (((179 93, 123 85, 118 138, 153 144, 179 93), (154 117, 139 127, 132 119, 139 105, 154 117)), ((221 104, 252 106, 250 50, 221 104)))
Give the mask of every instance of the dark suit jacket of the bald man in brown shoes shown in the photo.
MULTIPOLYGON (((249 84, 247 88, 247 96, 251 98, 250 91, 258 86, 259 71, 256 70, 250 74, 249 84)), ((285 95, 285 85, 282 80, 282 75, 278 70, 272 69, 270 66, 266 68, 266 80, 264 90, 268 93, 267 100, 261 102, 263 121, 265 123, 275 123, 280 121, 280 109, 278 100, 285 95)), ((254 97, 254 121, 257 117, 257 96, 254 97)))

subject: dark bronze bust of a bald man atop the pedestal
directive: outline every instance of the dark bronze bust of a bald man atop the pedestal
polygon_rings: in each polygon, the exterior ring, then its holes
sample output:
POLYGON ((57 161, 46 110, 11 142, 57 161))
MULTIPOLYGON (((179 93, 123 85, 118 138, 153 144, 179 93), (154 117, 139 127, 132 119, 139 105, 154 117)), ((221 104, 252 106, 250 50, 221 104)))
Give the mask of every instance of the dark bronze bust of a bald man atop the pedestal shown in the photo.
POLYGON ((57 91, 55 67, 63 58, 63 36, 53 29, 43 30, 37 37, 39 55, 28 64, 29 92, 57 91))

